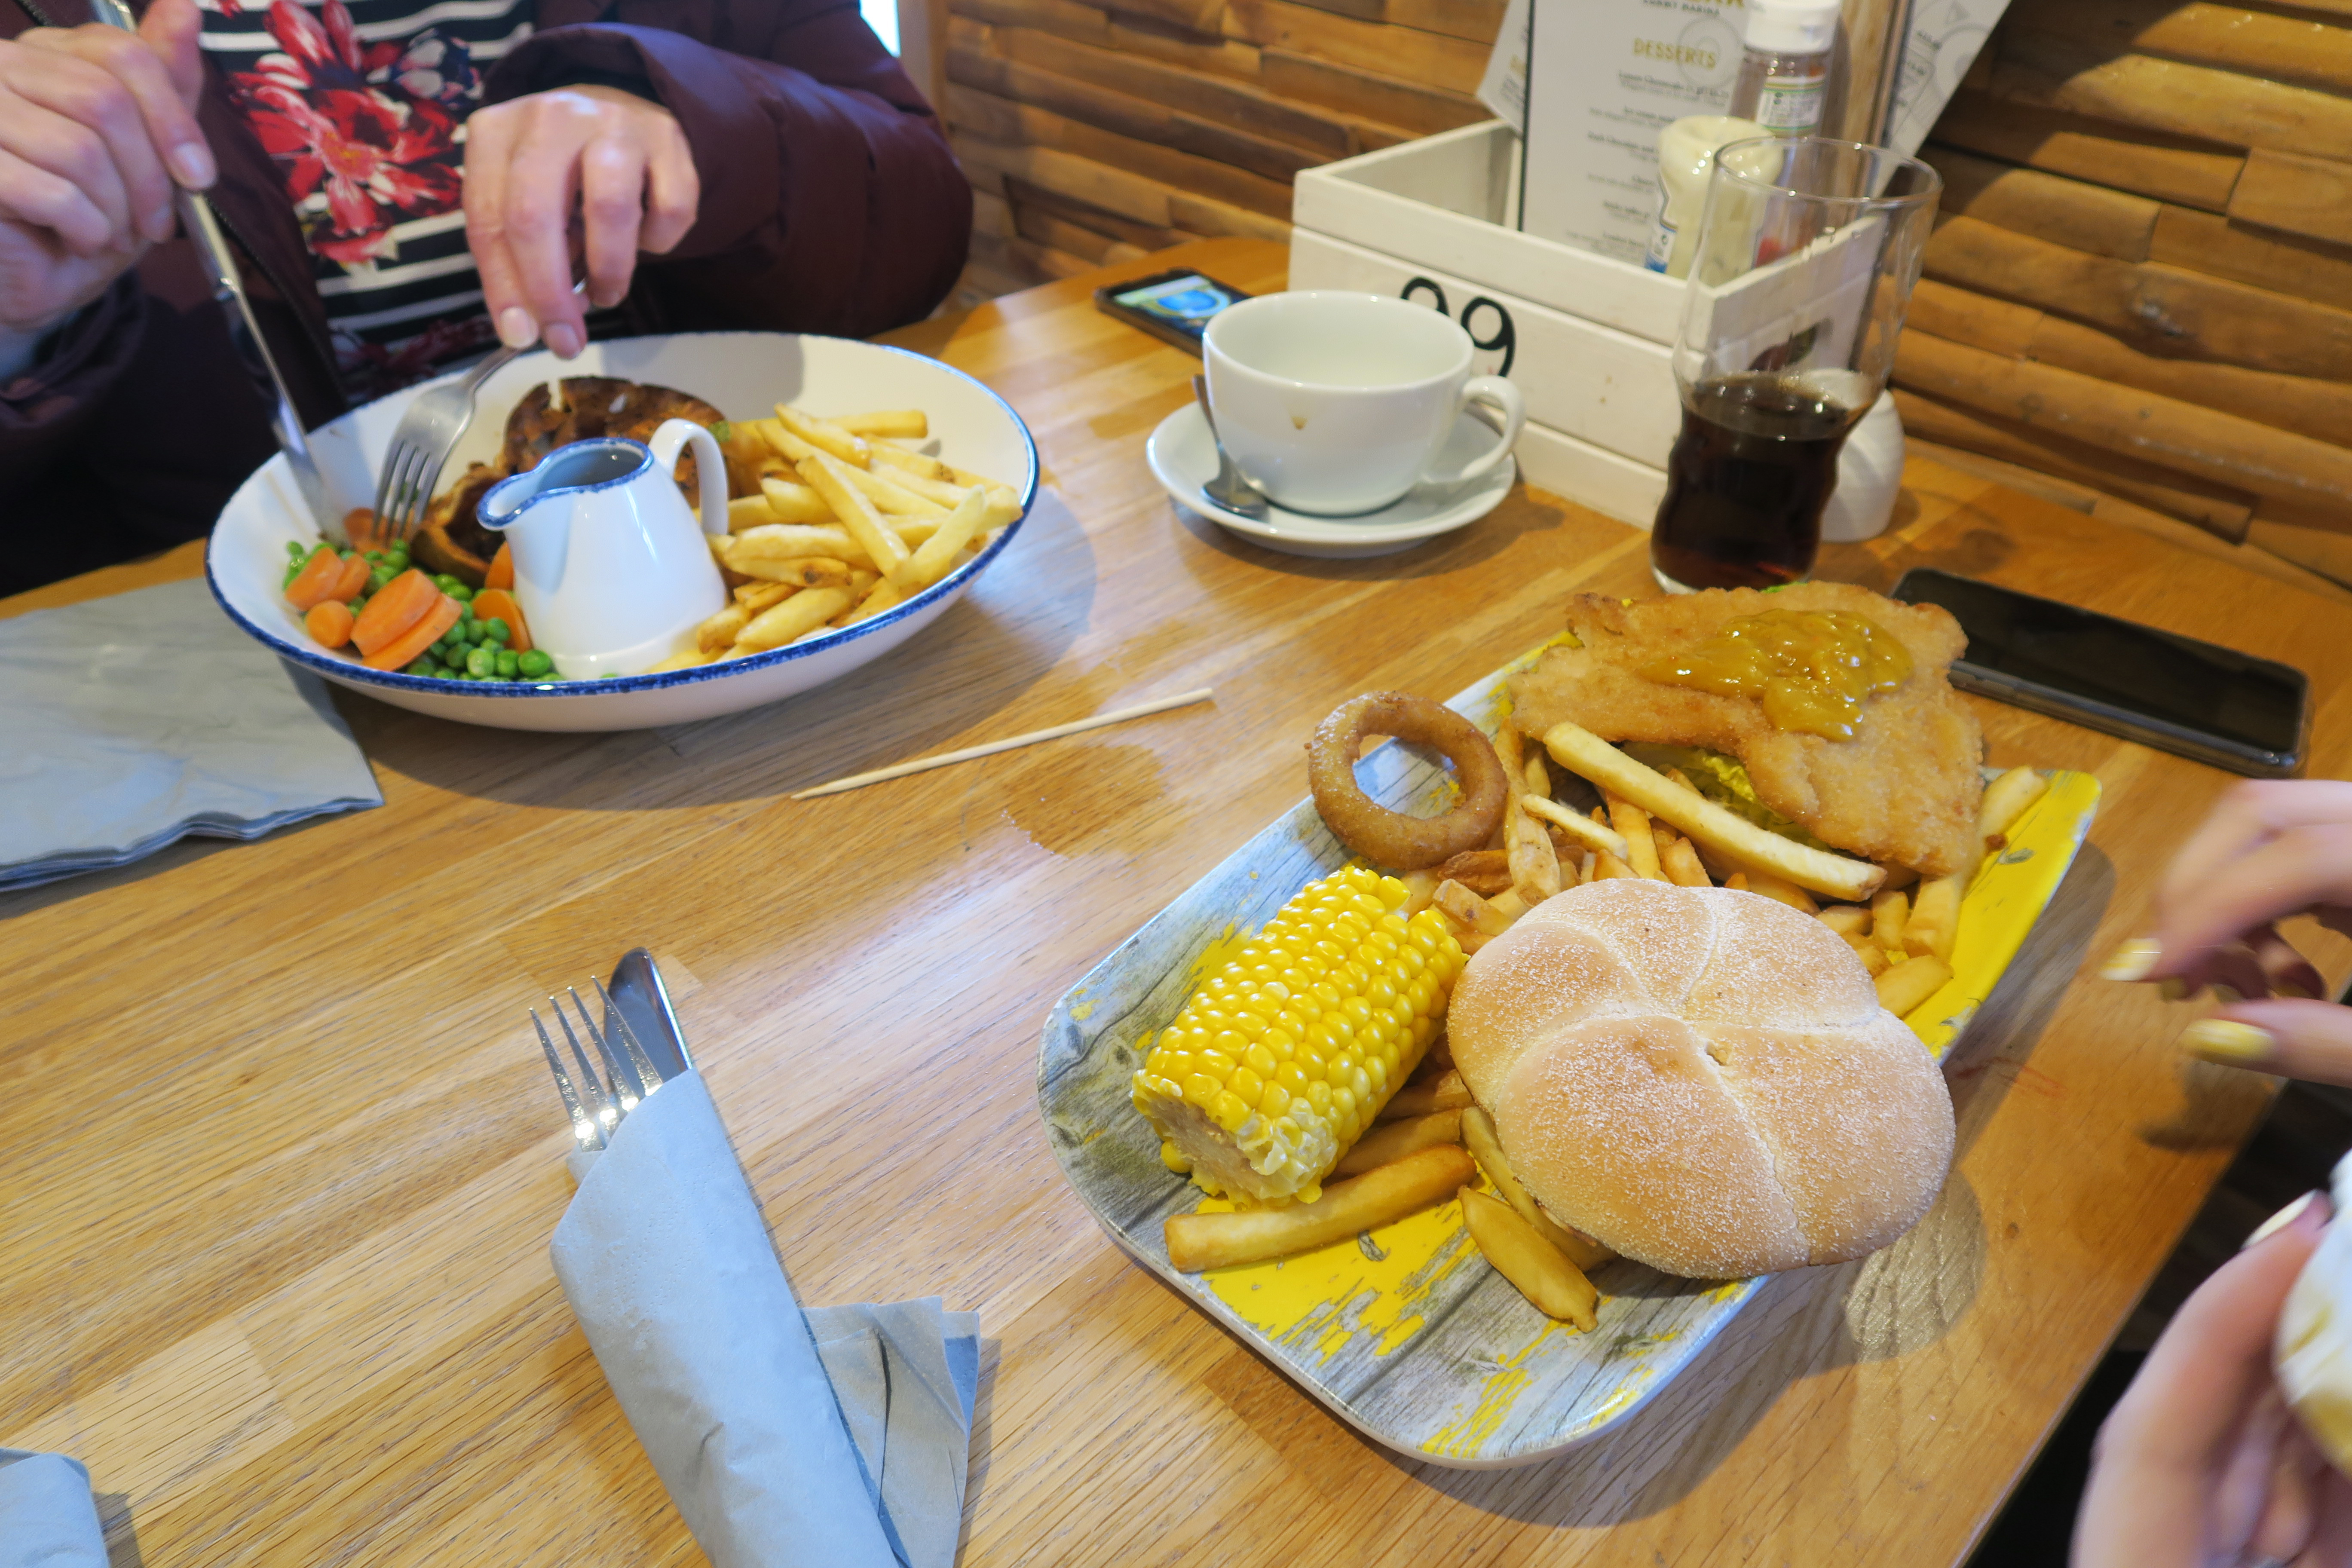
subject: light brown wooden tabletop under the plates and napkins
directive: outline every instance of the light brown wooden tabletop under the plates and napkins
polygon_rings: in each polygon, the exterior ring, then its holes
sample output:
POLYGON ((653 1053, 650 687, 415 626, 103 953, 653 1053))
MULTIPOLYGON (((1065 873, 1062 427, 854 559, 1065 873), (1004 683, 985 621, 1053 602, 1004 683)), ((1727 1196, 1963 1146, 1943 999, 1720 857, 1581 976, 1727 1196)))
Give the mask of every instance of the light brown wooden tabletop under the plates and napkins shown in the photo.
MULTIPOLYGON (((647 943, 807 1302, 978 1307, 964 1563, 1947 1563, 2267 1098, 2089 969, 2211 769, 1980 703, 2105 806, 1952 1063, 1959 1164, 1893 1251, 1776 1279, 1618 1434, 1517 1472, 1355 1436, 1124 1262, 1035 1112, 1049 1004, 1303 792, 1371 686, 1451 693, 1646 595, 1644 536, 1515 494, 1305 562, 1178 515, 1192 360, 1096 315, 1211 242, 903 341, 1000 388, 1054 491, 910 646, 675 731, 522 736, 339 693, 381 811, 0 896, 0 1443, 89 1462, 118 1563, 696 1561, 546 1260, 567 1135, 524 1006, 647 943), (821 802, 788 790, 1188 686, 1214 708, 821 802), (136 1552, 132 1549, 136 1537, 136 1552)), ((2286 658, 2352 762, 2340 597, 1912 465, 1825 571, 1938 564, 2286 658)), ((7 609, 183 576, 191 552, 7 609)), ((2331 976, 2340 945, 2312 947, 2331 976)))

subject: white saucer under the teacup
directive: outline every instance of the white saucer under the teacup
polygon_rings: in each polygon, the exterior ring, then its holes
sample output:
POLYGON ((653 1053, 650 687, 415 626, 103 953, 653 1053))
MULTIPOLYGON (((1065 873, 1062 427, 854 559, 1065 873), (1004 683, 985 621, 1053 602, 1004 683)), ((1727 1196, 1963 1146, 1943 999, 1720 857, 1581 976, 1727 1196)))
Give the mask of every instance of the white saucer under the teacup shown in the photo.
MULTIPOLYGON (((1437 461, 1458 468, 1489 447, 1494 447, 1494 428, 1472 414, 1463 414, 1437 461)), ((1207 480, 1216 477, 1216 442, 1209 437, 1209 421, 1202 418, 1197 402, 1188 402, 1162 418, 1160 428, 1152 430, 1145 454, 1152 477, 1188 512, 1200 512, 1221 529, 1254 538, 1268 550, 1319 555, 1327 559, 1392 555, 1411 550, 1423 538, 1468 527, 1501 505, 1503 496, 1510 494, 1512 480, 1519 475, 1517 458, 1503 458, 1477 480, 1444 487, 1418 484, 1395 505, 1383 505, 1378 512, 1364 512, 1362 517, 1310 517, 1305 512, 1287 512, 1279 505, 1268 505, 1265 517, 1242 517, 1216 505, 1200 489, 1207 480)))

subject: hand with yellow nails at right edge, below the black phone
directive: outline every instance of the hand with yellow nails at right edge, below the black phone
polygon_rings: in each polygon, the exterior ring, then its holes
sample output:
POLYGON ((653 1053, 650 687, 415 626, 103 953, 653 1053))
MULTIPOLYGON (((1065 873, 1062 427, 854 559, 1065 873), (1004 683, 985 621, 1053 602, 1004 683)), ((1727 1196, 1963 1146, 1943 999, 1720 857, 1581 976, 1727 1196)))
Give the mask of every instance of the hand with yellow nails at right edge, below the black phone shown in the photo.
POLYGON ((2319 999, 2319 971, 2274 924, 2305 912, 2352 933, 2352 783, 2241 783, 2164 875, 2157 933, 2103 973, 2176 999, 2213 987, 2223 1006, 2180 1037, 2206 1060, 2352 1084, 2352 1009, 2319 999))

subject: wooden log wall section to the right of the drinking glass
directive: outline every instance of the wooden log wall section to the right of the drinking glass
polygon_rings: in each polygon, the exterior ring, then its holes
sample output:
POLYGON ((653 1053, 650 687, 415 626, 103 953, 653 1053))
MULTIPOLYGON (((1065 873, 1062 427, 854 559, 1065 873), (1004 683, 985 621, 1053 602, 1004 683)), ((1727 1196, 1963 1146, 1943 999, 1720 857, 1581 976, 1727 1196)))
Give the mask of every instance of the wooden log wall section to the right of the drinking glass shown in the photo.
POLYGON ((1915 444, 2352 583, 2352 0, 2016 0, 1924 158, 1915 444))

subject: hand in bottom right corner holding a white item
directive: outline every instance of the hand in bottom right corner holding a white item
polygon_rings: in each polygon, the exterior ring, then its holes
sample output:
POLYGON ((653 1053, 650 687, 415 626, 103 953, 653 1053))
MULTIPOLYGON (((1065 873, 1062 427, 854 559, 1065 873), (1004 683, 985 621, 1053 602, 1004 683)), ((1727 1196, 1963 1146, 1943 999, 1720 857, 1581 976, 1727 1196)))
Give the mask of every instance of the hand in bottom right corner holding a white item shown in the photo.
POLYGON ((2270 1371, 2286 1291, 2326 1222, 2314 1192, 2183 1302, 2098 1429, 2074 1568, 2352 1563, 2352 1481, 2305 1436, 2270 1371))

